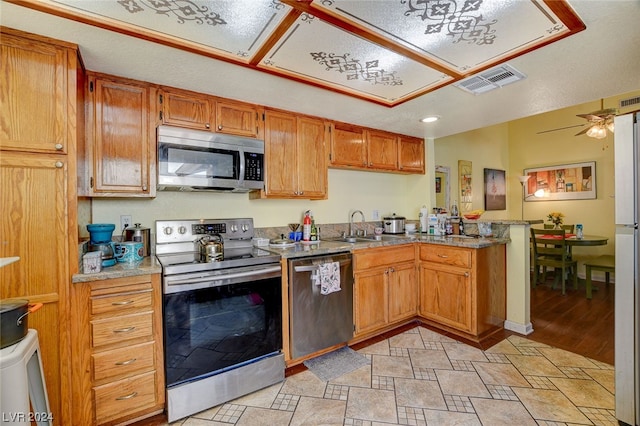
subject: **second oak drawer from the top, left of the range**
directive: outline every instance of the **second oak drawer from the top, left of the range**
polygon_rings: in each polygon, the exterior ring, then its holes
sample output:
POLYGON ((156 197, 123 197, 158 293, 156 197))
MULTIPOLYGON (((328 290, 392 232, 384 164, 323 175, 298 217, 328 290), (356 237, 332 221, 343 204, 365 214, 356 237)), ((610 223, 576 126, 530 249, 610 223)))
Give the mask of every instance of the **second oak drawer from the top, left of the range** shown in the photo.
POLYGON ((91 321, 93 347, 138 337, 151 337, 152 332, 153 312, 151 311, 91 321))

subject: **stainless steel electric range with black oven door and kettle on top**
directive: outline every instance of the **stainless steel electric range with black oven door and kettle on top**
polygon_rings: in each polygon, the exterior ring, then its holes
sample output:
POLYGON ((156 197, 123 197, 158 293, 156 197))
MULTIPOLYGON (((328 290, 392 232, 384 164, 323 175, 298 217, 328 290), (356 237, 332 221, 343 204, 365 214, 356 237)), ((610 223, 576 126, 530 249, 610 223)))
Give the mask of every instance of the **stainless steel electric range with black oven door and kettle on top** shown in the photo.
POLYGON ((253 236, 251 218, 156 221, 169 422, 284 380, 280 256, 253 236))

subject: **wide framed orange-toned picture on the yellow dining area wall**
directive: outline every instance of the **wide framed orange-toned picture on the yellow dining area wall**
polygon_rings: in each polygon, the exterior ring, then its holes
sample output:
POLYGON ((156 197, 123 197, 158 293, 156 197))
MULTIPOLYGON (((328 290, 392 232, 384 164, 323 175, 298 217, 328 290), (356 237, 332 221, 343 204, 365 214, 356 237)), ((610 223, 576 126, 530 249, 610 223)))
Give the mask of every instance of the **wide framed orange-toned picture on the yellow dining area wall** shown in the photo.
POLYGON ((596 198, 596 162, 524 169, 531 176, 525 201, 588 200, 596 198))

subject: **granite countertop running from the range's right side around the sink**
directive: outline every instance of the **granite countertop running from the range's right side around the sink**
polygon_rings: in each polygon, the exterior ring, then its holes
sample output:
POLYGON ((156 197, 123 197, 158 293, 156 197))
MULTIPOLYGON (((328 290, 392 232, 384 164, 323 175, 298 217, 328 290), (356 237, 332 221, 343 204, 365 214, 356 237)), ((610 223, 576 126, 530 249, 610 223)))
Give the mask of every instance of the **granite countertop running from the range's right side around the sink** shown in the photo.
POLYGON ((289 247, 259 247, 272 253, 280 254, 285 259, 293 259, 297 257, 318 256, 325 254, 335 254, 352 252, 354 250, 362 250, 374 247, 395 246, 402 244, 412 244, 415 242, 426 244, 439 244, 454 247, 479 249, 499 244, 507 244, 511 240, 509 238, 460 238, 459 236, 435 236, 435 235, 410 235, 402 237, 394 237, 384 241, 363 241, 358 240, 355 243, 347 243, 342 241, 327 240, 320 241, 317 244, 301 244, 297 243, 289 247))

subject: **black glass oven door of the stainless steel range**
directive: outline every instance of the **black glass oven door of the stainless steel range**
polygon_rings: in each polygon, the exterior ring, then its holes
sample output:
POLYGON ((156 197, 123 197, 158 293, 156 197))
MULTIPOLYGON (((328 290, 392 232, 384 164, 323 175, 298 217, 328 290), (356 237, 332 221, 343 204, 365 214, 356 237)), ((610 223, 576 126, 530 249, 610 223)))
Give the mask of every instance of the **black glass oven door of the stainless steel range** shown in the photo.
POLYGON ((164 295, 167 386, 282 349, 281 278, 164 295))

